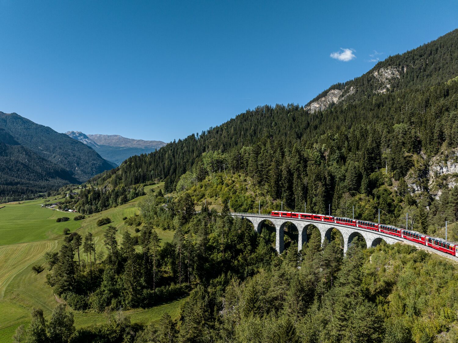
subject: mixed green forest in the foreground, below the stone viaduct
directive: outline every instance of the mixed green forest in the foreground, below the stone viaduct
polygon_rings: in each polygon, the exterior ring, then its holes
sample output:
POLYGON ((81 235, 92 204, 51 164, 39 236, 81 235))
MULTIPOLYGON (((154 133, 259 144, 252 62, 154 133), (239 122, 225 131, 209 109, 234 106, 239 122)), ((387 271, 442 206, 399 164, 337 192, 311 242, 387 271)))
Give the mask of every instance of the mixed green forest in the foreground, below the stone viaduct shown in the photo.
MULTIPOLYGON (((34 309, 19 327, 22 342, 454 342, 458 338, 456 267, 409 245, 364 249, 355 240, 346 256, 341 237, 308 243, 278 256, 266 225, 256 234, 245 220, 194 211, 187 192, 166 203, 149 193, 139 234, 105 228, 108 254, 93 236, 65 237, 47 253, 47 280, 79 311, 100 311, 107 324, 75 329, 73 313, 58 305, 49 320, 34 309), (165 204, 167 206, 164 206, 165 204), (160 244, 153 223, 172 221, 172 243, 160 244), (136 250, 136 246, 141 249, 136 250), (122 310, 187 295, 176 320, 165 314, 147 326, 131 324, 122 310)), ((128 218, 130 219, 130 218, 128 218)), ((290 232, 292 233, 292 231, 290 232)), ((288 232, 286 234, 289 234, 288 232)))

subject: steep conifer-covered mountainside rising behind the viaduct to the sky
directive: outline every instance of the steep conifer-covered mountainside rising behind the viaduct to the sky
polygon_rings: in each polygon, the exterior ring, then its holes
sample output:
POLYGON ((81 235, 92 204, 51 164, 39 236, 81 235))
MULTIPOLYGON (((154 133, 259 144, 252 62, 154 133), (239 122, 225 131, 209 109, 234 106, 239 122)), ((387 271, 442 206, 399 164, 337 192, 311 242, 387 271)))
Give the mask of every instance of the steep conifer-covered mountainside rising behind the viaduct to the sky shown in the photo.
MULTIPOLYGON (((345 194, 377 197, 380 180, 373 173, 387 165, 387 186, 410 170, 427 208, 430 158, 458 147, 457 54, 455 30, 331 87, 350 86, 353 93, 327 109, 289 104, 248 110, 201 135, 129 158, 90 182, 104 186, 108 199, 111 190, 125 193, 155 179, 172 191, 186 172, 199 181, 227 170, 249 175, 293 209, 307 202, 310 211, 324 212, 331 203, 335 212, 345 194)), ((119 201, 119 194, 104 203, 119 201)))

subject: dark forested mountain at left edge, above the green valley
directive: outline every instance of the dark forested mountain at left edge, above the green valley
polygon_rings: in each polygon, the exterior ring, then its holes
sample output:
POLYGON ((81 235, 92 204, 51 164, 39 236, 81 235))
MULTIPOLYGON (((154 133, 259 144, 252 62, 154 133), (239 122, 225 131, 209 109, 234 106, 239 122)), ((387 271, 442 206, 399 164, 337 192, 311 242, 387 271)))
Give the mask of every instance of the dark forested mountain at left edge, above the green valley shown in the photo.
POLYGON ((85 182, 114 166, 82 142, 19 114, 0 112, 0 200, 85 182))

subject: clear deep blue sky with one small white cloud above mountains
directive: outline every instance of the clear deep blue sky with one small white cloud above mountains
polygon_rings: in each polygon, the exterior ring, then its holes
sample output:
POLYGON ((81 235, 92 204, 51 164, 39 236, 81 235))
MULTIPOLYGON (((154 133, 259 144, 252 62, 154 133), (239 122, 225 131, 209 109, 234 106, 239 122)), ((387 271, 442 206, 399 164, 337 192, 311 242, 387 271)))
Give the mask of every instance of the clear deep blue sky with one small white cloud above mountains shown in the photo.
POLYGON ((457 28, 458 2, 0 0, 0 20, 0 111, 169 142, 303 105, 457 28))

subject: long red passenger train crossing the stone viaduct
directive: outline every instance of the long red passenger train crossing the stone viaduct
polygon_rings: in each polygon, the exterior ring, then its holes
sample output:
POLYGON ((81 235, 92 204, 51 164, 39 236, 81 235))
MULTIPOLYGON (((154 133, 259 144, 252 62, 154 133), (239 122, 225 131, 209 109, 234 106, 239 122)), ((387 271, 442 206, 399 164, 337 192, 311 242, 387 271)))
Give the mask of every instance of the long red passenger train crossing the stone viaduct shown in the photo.
POLYGON ((458 257, 458 244, 447 242, 446 240, 442 240, 440 238, 430 237, 425 234, 420 234, 420 232, 400 229, 392 225, 378 224, 364 220, 343 217, 333 217, 315 213, 272 211, 271 216, 313 220, 324 223, 336 223, 339 225, 354 226, 360 229, 378 231, 384 234, 391 234, 392 236, 403 238, 404 240, 410 240, 418 244, 426 245, 433 249, 440 250, 446 252, 447 254, 451 254, 453 256, 458 257))

